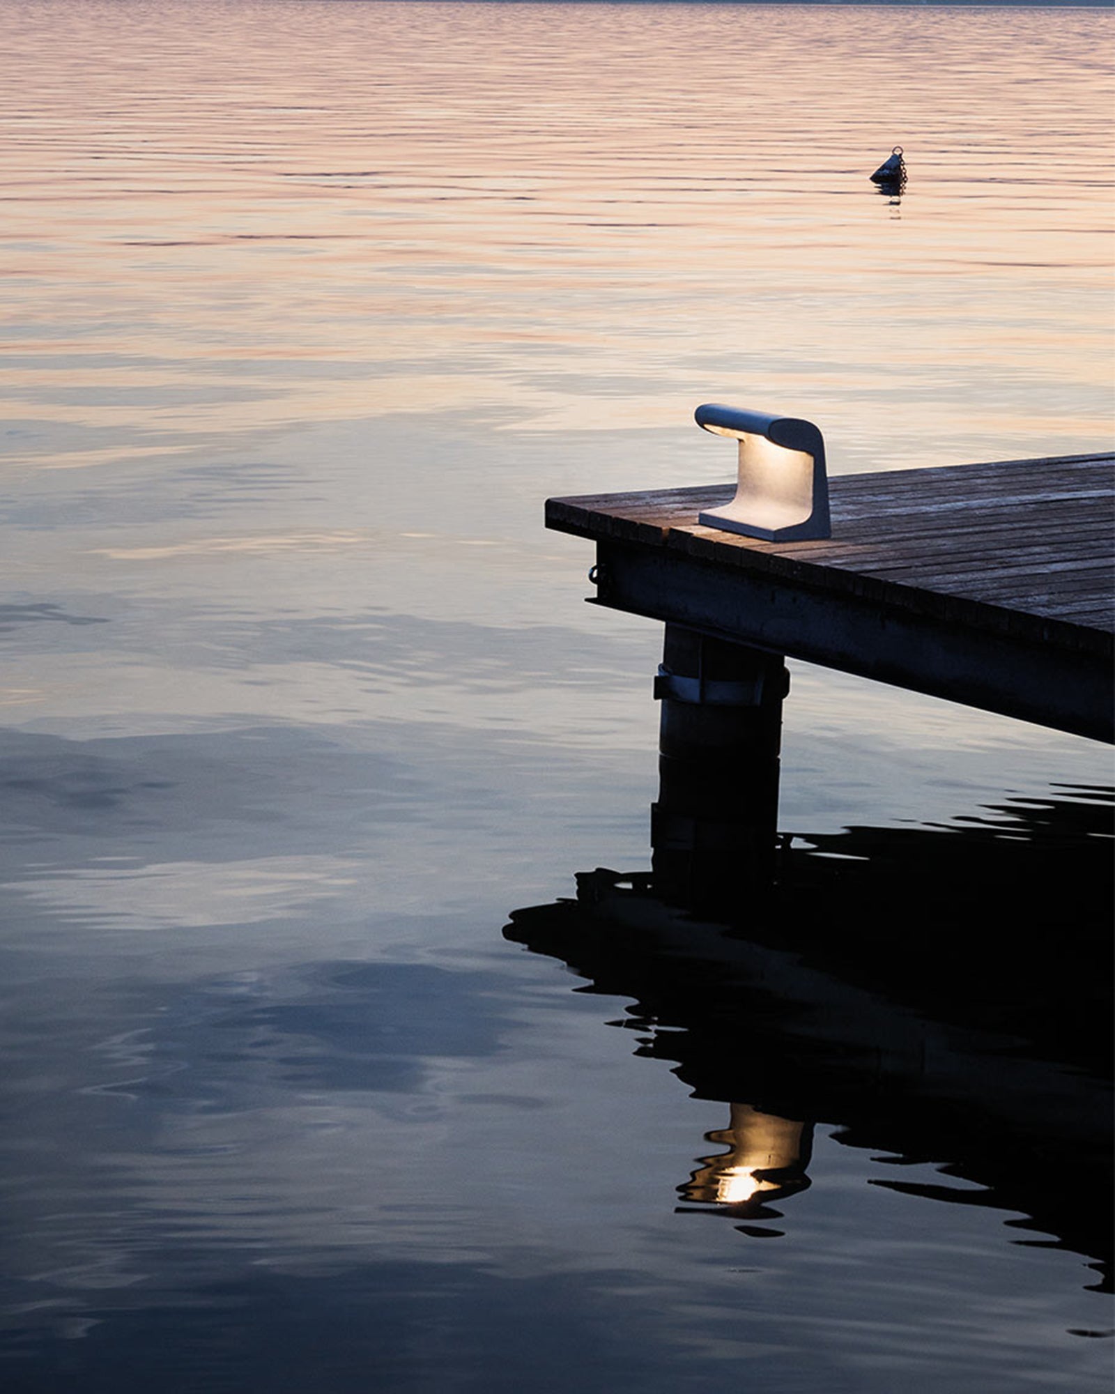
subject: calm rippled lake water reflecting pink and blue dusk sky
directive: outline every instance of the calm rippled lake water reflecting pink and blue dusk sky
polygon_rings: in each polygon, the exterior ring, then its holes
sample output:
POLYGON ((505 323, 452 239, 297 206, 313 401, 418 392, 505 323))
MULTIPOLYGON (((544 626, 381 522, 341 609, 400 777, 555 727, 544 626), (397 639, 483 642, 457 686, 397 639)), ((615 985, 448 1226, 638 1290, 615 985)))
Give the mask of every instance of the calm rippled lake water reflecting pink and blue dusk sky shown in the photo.
POLYGON ((541 516, 1109 447, 1111 13, 0 24, 4 1388, 1107 1390, 1107 750, 794 665, 754 934, 573 905, 661 634, 541 516))

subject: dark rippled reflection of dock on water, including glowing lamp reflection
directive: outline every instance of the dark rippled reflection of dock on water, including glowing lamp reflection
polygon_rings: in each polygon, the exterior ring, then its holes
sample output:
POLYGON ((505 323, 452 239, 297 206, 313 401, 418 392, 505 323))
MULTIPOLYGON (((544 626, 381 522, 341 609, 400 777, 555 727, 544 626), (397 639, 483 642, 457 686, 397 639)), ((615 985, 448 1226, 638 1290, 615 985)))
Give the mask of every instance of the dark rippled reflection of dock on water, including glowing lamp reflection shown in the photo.
POLYGON ((877 1185, 1015 1211, 1109 1285, 1109 793, 1082 789, 808 839, 732 927, 663 903, 654 875, 595 871, 505 933, 631 999, 637 1054, 733 1104, 690 1206, 774 1232, 754 1221, 807 1184, 810 1124, 840 1122, 888 1154, 877 1185))

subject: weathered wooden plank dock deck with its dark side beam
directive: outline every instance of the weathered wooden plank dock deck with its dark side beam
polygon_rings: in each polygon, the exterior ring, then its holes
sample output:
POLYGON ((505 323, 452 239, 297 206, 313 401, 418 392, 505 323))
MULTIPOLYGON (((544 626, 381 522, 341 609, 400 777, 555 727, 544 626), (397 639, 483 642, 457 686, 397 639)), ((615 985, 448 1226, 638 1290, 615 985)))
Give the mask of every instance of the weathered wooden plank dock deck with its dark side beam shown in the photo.
POLYGON ((1115 740, 1115 454, 829 480, 832 537, 702 527, 733 485, 549 499, 597 602, 1115 740))

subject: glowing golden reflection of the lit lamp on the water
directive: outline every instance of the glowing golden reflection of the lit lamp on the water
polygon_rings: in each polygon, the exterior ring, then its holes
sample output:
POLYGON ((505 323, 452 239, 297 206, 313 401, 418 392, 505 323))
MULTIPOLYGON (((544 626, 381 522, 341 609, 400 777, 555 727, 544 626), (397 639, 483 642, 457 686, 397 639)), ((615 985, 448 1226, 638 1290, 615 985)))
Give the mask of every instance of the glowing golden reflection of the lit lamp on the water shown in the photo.
POLYGON ((728 1128, 707 1135, 729 1151, 705 1157, 689 1185, 686 1200, 739 1206, 748 1200, 779 1200, 808 1186, 811 1128, 792 1118, 764 1114, 750 1104, 732 1104, 728 1128))

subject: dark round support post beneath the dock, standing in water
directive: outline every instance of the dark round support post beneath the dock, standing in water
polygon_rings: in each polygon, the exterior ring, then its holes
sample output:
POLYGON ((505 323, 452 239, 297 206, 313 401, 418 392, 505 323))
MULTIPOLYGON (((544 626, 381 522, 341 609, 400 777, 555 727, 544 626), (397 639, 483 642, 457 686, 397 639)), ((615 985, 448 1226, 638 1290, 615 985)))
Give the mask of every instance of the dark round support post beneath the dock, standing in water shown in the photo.
POLYGON ((655 888, 666 902, 739 913, 771 884, 787 690, 780 654, 666 625, 651 806, 655 888))

